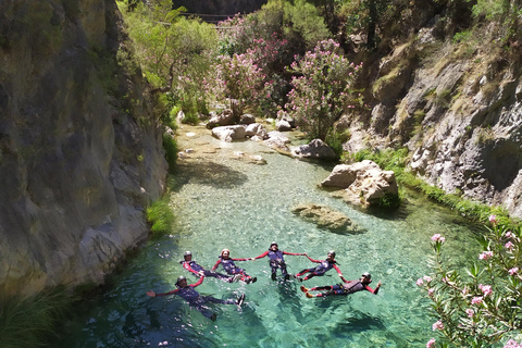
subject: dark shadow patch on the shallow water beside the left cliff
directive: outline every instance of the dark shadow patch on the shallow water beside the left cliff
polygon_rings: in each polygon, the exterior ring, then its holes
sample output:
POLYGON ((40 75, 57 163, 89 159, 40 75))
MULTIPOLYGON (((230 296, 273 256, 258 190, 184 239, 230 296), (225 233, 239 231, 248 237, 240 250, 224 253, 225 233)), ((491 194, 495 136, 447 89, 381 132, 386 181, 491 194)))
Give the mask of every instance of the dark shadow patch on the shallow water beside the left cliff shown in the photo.
POLYGON ((184 161, 176 165, 174 174, 176 179, 172 189, 176 192, 188 183, 228 189, 240 186, 248 179, 241 172, 211 161, 184 161))

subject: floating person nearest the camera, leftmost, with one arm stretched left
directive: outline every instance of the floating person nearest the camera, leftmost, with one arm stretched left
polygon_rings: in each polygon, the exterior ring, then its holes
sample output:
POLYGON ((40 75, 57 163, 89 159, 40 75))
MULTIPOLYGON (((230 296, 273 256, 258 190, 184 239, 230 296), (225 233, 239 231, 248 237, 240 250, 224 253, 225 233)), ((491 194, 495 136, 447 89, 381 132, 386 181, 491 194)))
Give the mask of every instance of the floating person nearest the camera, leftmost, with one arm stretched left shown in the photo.
POLYGON ((204 276, 201 276, 197 283, 188 285, 187 278, 182 275, 181 277, 177 278, 176 289, 169 293, 164 293, 164 294, 156 294, 153 290, 149 290, 147 291, 147 295, 150 297, 167 296, 167 295, 181 296, 188 302, 190 307, 196 308, 198 311, 201 312, 201 314, 211 319, 212 321, 216 320, 217 314, 210 311, 208 307, 206 307, 204 304, 223 303, 223 304, 241 306, 243 302, 245 301, 245 294, 241 295, 237 300, 234 300, 234 299, 222 300, 212 296, 199 295, 199 293, 196 291, 195 287, 197 287, 198 285, 201 285, 201 283, 203 283, 203 279, 204 279, 204 276))

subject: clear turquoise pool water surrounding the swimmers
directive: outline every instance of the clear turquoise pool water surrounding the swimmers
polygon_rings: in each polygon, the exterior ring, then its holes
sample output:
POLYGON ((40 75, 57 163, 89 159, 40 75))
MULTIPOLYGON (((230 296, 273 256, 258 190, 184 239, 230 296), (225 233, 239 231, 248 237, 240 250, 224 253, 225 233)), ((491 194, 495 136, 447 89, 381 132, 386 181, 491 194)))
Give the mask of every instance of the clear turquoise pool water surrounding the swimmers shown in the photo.
MULTIPOLYGON (((179 160, 172 192, 175 233, 152 238, 104 294, 78 308, 54 347, 425 347, 435 337, 430 302, 415 281, 430 272, 430 237, 435 233, 446 237, 446 252, 457 266, 475 258, 476 232, 465 222, 420 198, 410 198, 391 214, 353 209, 316 187, 332 167, 294 160, 253 141, 187 137, 190 129, 179 132, 182 147, 196 151, 179 160), (209 146, 199 149, 202 145, 209 146), (211 151, 215 146, 221 148, 211 151), (250 163, 234 151, 260 154, 266 164, 250 163), (346 235, 319 229, 290 212, 300 203, 328 206, 360 228, 346 235), (254 284, 207 278, 197 288, 219 298, 246 294, 241 309, 212 304, 216 322, 176 296, 145 295, 148 289, 173 289, 179 275, 196 283, 178 262, 185 250, 210 269, 223 248, 232 258, 257 257, 273 240, 281 250, 308 252, 312 259, 323 260, 335 249, 346 278, 368 271, 373 286, 382 281, 381 291, 308 299, 300 283, 271 281, 268 260, 261 259, 237 262, 258 277, 254 284)), ((285 259, 290 273, 314 265, 304 257, 285 259)), ((335 271, 328 273, 303 284, 339 282, 335 271)))

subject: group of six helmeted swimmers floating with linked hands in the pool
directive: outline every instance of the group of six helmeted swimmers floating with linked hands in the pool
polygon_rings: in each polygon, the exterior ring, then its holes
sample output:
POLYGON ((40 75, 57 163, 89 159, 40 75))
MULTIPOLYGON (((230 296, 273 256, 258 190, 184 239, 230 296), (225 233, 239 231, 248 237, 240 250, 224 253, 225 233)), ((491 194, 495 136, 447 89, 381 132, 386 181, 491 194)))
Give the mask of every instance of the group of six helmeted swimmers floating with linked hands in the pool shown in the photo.
POLYGON ((259 257, 256 257, 256 258, 233 259, 231 258, 231 251, 228 249, 223 249, 221 251, 221 254, 217 261, 212 266, 211 271, 206 270, 196 261, 192 261, 192 253, 190 251, 186 251, 184 253, 184 260, 179 261, 179 263, 182 263, 185 270, 199 276, 199 281, 195 284, 188 284, 187 278, 185 276, 179 276, 175 284, 176 289, 169 293, 164 293, 164 294, 156 294, 153 290, 149 290, 147 291, 147 295, 150 297, 178 295, 183 297, 191 307, 199 310, 204 316, 211 319, 212 321, 215 321, 216 314, 211 312, 208 308, 206 308, 204 307, 206 303, 212 302, 212 303, 241 306, 243 302, 245 301, 245 294, 243 294, 236 300, 233 300, 233 299, 222 300, 222 299, 214 298, 212 296, 201 296, 194 288, 201 285, 206 276, 215 277, 228 283, 234 283, 238 281, 245 282, 246 284, 256 283, 258 278, 251 277, 250 275, 248 275, 244 269, 240 269, 235 264, 235 261, 253 261, 253 260, 262 259, 265 257, 269 257, 269 264, 272 270, 271 277, 273 281, 276 279, 277 270, 281 270, 281 273, 283 274, 285 279, 289 279, 290 277, 294 277, 299 282, 308 281, 314 276, 322 276, 332 269, 337 271, 337 274, 343 281, 341 284, 316 286, 312 288, 306 288, 304 286, 301 286, 301 290, 306 294, 308 298, 325 297, 331 295, 349 295, 349 294, 353 294, 362 290, 366 290, 376 295, 378 293, 378 289, 381 288, 381 282, 377 283, 377 286, 374 289, 369 286, 369 284, 372 282, 372 276, 370 275, 370 273, 363 273, 360 279, 347 281, 343 276, 343 273, 340 272, 339 268, 337 266, 337 262, 335 261, 335 251, 333 250, 328 251, 325 260, 313 260, 306 252, 295 253, 295 252, 282 251, 278 249, 277 243, 273 241, 270 245, 269 250, 266 250, 265 252, 261 253, 259 257), (290 274, 288 274, 286 270, 286 263, 284 260, 285 254, 304 256, 310 261, 319 263, 319 265, 310 269, 304 269, 301 272, 297 273, 296 275, 290 276, 290 274), (226 272, 226 274, 219 273, 215 271, 220 264, 223 266, 223 270, 226 272), (306 276, 303 277, 303 275, 306 276), (313 295, 310 291, 322 291, 322 293, 313 295))

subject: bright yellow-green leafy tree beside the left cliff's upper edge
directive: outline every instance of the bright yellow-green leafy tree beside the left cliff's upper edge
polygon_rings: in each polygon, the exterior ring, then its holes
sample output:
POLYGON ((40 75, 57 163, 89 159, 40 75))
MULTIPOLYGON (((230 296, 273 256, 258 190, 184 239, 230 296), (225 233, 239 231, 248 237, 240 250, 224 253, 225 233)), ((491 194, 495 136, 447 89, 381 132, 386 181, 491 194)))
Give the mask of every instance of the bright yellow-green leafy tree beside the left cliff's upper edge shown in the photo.
POLYGON ((182 17, 170 0, 146 5, 117 1, 134 42, 134 54, 151 85, 192 120, 206 110, 204 86, 217 42, 213 25, 182 17))

